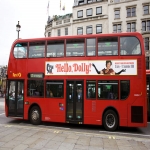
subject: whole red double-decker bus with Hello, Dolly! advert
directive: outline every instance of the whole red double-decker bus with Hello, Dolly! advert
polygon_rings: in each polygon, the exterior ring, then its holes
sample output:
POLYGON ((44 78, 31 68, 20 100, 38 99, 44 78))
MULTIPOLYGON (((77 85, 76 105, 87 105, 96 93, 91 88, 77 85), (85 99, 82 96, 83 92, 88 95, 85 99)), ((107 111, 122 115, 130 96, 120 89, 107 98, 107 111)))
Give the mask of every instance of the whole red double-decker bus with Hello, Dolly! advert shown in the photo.
POLYGON ((139 33, 18 39, 8 63, 7 117, 146 127, 146 70, 139 33))

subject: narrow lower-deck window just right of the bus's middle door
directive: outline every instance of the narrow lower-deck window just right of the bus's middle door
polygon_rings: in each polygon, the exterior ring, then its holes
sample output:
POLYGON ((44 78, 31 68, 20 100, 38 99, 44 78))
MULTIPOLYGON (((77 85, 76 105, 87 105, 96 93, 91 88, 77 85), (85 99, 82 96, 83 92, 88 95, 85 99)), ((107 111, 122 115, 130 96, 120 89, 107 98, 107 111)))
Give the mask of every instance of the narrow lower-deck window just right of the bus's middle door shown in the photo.
POLYGON ((96 81, 86 81, 86 97, 96 98, 96 81))

